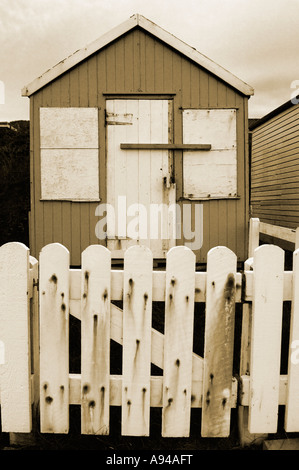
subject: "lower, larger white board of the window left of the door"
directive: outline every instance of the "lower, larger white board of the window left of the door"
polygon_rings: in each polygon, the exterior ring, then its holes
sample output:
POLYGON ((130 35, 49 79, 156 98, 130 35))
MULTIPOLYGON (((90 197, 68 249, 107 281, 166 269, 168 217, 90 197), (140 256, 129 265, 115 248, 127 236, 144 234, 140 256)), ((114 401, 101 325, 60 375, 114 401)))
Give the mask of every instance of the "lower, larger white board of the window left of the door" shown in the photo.
POLYGON ((41 198, 99 198, 97 149, 42 149, 41 198))

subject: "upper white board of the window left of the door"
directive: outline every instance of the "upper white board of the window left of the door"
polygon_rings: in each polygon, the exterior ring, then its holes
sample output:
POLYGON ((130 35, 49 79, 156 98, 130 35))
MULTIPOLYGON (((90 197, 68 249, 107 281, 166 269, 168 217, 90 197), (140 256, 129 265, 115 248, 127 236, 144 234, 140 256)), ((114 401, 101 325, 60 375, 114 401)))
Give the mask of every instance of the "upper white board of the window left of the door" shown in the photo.
POLYGON ((98 148, 97 108, 40 108, 41 148, 98 148))

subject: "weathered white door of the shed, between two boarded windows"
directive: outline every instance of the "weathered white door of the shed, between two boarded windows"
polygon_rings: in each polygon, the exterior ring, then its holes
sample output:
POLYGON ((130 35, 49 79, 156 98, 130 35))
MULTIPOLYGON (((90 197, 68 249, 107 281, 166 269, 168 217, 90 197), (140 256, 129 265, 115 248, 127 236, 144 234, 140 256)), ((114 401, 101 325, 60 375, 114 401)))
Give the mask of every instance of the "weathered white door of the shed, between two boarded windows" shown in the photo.
POLYGON ((172 141, 171 109, 168 100, 107 100, 107 247, 114 258, 135 244, 164 258, 175 245, 172 152, 155 146, 172 141))

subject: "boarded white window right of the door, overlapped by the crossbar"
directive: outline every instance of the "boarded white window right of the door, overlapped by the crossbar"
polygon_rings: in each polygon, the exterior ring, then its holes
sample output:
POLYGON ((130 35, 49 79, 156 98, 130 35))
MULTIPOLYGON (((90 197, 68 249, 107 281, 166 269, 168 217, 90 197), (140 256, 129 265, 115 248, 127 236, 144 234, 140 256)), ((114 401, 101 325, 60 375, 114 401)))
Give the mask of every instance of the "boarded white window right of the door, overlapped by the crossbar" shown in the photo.
POLYGON ((184 144, 211 144, 211 150, 184 152, 184 197, 236 196, 236 110, 185 110, 183 141, 184 144))

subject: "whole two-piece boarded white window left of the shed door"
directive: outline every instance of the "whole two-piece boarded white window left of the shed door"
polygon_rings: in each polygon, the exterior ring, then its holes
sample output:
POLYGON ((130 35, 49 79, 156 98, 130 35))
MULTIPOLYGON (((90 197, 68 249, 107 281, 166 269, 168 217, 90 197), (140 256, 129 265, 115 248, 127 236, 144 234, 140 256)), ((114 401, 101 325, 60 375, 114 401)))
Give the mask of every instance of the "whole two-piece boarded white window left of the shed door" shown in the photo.
POLYGON ((99 199, 97 108, 41 108, 41 198, 99 199))

